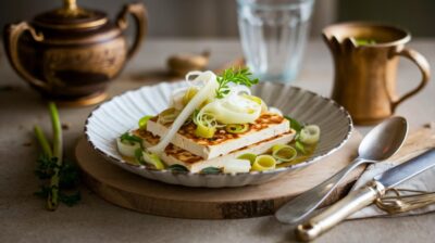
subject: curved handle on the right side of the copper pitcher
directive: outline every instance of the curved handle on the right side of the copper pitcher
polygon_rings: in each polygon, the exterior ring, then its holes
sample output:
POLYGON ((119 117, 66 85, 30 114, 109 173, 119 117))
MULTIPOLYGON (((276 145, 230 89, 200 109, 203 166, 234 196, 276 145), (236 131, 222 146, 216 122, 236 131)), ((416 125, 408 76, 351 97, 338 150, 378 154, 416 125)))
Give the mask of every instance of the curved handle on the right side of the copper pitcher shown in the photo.
POLYGON ((431 78, 431 66, 428 65, 427 60, 422 54, 420 54, 418 51, 405 48, 401 51, 394 52, 391 56, 395 56, 395 55, 400 55, 400 56, 407 57, 411 62, 413 62, 419 67, 420 72, 422 74, 422 79, 420 81, 420 85, 417 88, 414 88, 411 91, 405 93, 399 99, 397 99, 395 101, 391 101, 391 113, 395 112, 396 107, 401 102, 406 101, 410 97, 412 97, 412 95, 417 94, 418 92, 420 92, 427 85, 427 81, 431 78))

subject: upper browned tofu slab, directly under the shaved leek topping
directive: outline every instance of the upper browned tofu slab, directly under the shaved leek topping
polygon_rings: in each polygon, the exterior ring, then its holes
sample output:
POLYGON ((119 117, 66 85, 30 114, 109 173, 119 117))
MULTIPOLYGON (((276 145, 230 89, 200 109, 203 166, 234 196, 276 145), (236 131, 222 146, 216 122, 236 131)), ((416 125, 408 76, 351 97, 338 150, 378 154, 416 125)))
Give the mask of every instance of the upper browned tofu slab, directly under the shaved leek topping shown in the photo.
MULTIPOLYGON (((170 128, 152 118, 147 123, 147 130, 153 136, 162 137, 170 128)), ((273 113, 262 114, 254 124, 249 125, 249 129, 244 133, 229 133, 225 128, 220 128, 211 139, 198 138, 195 136, 195 124, 183 126, 171 141, 174 145, 183 148, 191 154, 204 159, 226 155, 232 151, 258 143, 260 141, 275 138, 290 131, 289 122, 273 113)))

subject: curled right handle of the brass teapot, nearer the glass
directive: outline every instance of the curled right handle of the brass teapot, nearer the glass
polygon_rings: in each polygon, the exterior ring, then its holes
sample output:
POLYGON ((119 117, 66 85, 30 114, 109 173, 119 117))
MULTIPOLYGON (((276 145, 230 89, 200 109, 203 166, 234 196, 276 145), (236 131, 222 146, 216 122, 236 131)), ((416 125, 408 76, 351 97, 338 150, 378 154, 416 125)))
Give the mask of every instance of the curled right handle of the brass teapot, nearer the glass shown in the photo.
POLYGON ((133 46, 128 49, 127 59, 130 59, 138 50, 147 33, 148 16, 144 3, 130 3, 124 5, 117 15, 116 25, 122 30, 128 27, 127 15, 132 14, 136 24, 136 37, 133 46))

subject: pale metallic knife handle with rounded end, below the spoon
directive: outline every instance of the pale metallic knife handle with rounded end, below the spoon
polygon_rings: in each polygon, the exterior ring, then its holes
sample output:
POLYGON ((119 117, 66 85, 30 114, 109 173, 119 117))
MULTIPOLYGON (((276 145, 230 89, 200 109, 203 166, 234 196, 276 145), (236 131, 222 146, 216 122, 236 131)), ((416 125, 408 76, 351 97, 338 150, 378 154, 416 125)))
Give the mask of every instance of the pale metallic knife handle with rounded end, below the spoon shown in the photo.
POLYGON ((296 228, 296 235, 302 241, 311 241, 326 232, 348 216, 372 204, 385 192, 384 186, 372 181, 369 187, 350 192, 338 203, 296 228))

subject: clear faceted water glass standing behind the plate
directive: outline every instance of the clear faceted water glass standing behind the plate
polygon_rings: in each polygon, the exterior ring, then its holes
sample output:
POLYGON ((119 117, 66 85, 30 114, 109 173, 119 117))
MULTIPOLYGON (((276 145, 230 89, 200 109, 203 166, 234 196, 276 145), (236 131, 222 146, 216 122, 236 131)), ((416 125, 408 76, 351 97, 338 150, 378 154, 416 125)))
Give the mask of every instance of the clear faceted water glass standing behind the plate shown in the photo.
POLYGON ((245 59, 260 80, 296 79, 314 0, 237 0, 245 59))

